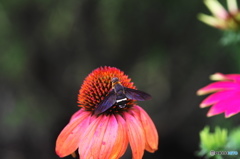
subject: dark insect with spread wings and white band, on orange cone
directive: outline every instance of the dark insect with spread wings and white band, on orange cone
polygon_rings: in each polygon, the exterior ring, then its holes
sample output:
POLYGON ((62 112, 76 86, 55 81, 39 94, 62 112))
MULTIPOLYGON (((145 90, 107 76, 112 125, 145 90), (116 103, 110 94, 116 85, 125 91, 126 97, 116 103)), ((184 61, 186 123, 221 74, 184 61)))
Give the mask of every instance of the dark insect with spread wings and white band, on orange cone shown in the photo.
POLYGON ((116 104, 120 108, 124 108, 127 104, 128 99, 145 101, 152 98, 151 95, 145 92, 123 87, 123 85, 119 82, 119 79, 117 77, 112 78, 112 87, 113 88, 109 92, 109 94, 97 106, 95 110, 96 115, 105 112, 114 104, 116 104))

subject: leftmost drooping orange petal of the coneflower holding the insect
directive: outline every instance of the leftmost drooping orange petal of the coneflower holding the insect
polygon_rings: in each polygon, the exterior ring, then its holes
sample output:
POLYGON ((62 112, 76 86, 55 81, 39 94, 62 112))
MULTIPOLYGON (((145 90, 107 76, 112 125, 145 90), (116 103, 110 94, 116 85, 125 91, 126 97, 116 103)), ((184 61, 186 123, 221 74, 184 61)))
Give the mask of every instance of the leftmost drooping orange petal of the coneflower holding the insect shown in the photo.
POLYGON ((79 110, 78 113, 81 115, 71 120, 57 138, 55 151, 60 157, 70 155, 78 147, 80 133, 84 128, 81 125, 84 124, 86 126, 84 121, 88 119, 90 112, 79 110))

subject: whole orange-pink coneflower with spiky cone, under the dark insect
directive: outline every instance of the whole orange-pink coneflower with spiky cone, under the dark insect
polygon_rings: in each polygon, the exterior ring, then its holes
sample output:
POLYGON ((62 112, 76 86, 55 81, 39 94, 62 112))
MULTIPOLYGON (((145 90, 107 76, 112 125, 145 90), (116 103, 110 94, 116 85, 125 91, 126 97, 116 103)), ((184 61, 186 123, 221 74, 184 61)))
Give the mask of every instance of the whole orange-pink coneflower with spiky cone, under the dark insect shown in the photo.
MULTIPOLYGON (((96 114, 96 109, 113 89, 112 79, 118 78, 118 86, 136 89, 131 79, 114 67, 100 67, 90 73, 80 89, 79 106, 59 134, 56 153, 65 157, 78 149, 80 159, 118 159, 128 144, 133 159, 141 159, 144 150, 158 149, 158 133, 148 114, 127 99, 125 105, 118 103, 96 114)), ((99 112, 99 111, 98 111, 99 112)))

